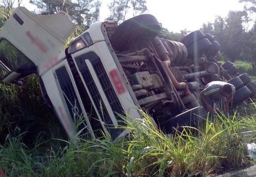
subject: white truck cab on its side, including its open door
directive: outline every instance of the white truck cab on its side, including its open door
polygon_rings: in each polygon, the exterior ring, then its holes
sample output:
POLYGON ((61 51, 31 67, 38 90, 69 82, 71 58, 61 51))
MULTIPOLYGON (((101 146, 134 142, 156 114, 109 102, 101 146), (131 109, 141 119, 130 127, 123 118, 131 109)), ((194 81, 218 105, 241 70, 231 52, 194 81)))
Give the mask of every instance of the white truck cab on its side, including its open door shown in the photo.
POLYGON ((77 136, 76 118, 82 120, 80 129, 90 137, 101 137, 103 131, 115 139, 123 132, 116 128, 123 123, 115 112, 140 115, 136 109, 123 109, 134 103, 105 42, 101 22, 92 24, 60 52, 73 30, 75 25, 62 13, 35 15, 18 7, 0 30, 4 51, 0 66, 6 72, 1 80, 18 84, 20 78, 38 74, 43 96, 71 138, 77 136), (9 52, 15 54, 9 56, 9 52))

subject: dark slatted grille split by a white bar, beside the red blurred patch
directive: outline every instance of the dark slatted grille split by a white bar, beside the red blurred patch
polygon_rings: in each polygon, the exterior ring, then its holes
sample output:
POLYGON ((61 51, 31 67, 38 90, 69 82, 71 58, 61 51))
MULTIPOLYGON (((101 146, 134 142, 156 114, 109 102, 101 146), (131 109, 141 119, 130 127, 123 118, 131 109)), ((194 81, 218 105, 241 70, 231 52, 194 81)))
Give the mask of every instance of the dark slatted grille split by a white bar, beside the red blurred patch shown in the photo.
POLYGON ((89 60, 92 64, 93 70, 98 77, 100 86, 102 87, 104 94, 106 95, 110 107, 115 115, 115 119, 118 122, 118 125, 125 125, 123 121, 118 121, 122 120, 118 114, 125 115, 125 113, 120 105, 118 97, 115 94, 115 91, 98 55, 96 55, 94 52, 88 52, 78 57, 75 57, 75 62, 78 66, 78 70, 81 72, 82 77, 85 80, 85 84, 88 87, 88 91, 90 92, 90 95, 92 97, 92 100, 95 103, 95 109, 99 112, 100 117, 102 117, 102 120, 105 122, 106 127, 110 132, 111 138, 115 139, 118 135, 120 135, 121 132, 123 132, 123 130, 120 129, 120 127, 114 128, 113 122, 110 119, 110 115, 108 114, 108 111, 102 101, 98 88, 95 85, 93 77, 90 74, 90 70, 85 63, 85 60, 89 60))

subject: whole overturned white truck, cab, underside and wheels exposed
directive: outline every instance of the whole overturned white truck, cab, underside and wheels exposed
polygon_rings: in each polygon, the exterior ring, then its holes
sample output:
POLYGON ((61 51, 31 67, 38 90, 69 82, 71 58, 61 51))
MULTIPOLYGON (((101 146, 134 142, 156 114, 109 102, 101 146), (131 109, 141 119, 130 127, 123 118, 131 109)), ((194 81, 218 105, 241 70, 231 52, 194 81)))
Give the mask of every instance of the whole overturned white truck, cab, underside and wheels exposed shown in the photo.
POLYGON ((125 125, 120 115, 142 117, 135 107, 166 133, 197 126, 207 117, 199 92, 213 80, 236 87, 233 105, 254 93, 247 74, 231 62, 218 64, 221 46, 200 30, 181 42, 162 39, 156 17, 143 14, 120 25, 93 23, 62 50, 74 29, 61 13, 41 16, 18 7, 0 31, 1 81, 21 84, 37 74, 45 102, 71 138, 79 130, 90 138, 123 137, 128 130, 118 128, 125 125), (84 121, 75 128, 77 117, 84 121))

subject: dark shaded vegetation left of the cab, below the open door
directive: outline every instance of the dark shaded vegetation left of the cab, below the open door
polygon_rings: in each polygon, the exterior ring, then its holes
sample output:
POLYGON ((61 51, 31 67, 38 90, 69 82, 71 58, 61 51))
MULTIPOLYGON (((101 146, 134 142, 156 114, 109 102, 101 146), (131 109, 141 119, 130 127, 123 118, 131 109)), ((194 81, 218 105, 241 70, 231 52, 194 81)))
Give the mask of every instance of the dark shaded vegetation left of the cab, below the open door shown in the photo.
POLYGON ((41 138, 46 140, 53 134, 66 139, 60 122, 43 101, 38 77, 30 75, 22 81, 21 86, 0 83, 0 143, 5 142, 9 131, 14 131, 15 127, 29 132, 24 136, 28 146, 33 146, 40 132, 41 138))

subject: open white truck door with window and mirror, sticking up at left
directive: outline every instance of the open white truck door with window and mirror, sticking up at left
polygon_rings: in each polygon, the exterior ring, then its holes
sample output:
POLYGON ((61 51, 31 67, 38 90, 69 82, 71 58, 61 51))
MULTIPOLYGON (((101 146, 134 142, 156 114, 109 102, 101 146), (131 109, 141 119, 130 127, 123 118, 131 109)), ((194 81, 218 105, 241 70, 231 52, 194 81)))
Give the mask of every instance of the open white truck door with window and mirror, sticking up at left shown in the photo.
POLYGON ((13 82, 44 66, 65 45, 75 25, 64 14, 35 15, 18 7, 0 30, 0 67, 3 82, 13 82), (3 75, 3 74, 2 74, 3 75))

